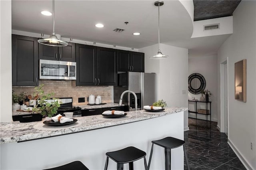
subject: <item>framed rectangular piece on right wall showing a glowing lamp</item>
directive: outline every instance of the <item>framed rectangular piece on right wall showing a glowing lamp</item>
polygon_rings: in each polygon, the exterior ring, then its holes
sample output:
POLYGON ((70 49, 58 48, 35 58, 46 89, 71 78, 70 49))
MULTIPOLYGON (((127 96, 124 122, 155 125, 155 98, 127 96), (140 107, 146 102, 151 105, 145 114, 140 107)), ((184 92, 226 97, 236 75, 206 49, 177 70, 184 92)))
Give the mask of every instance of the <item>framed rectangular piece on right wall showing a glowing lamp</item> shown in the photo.
POLYGON ((246 102, 246 59, 235 63, 235 99, 246 102))

